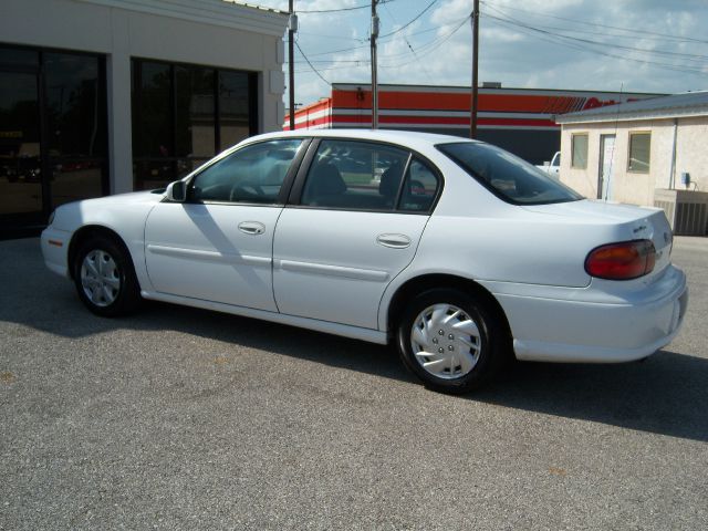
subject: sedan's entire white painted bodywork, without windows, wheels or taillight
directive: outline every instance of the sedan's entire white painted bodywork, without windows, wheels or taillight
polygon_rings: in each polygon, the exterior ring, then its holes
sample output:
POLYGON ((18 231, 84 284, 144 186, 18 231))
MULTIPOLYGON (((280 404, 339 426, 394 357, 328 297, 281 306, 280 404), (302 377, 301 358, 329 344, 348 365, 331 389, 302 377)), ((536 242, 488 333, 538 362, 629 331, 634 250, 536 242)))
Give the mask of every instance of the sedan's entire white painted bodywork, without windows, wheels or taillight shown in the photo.
POLYGON ((656 209, 590 200, 504 202, 435 147, 461 138, 341 129, 261 135, 241 145, 287 137, 397 144, 431 162, 444 175, 444 190, 430 216, 167 204, 150 192, 81 201, 60 207, 43 232, 48 267, 66 275, 72 236, 82 227, 105 227, 125 242, 148 299, 375 343, 386 342, 389 305, 406 282, 447 274, 489 291, 522 360, 636 360, 680 327, 686 279, 670 264, 670 229, 656 209), (263 233, 240 233, 243 221, 262 225, 263 233), (382 235, 394 242, 406 236, 410 244, 381 246, 382 235), (650 274, 608 281, 585 272, 595 247, 636 239, 655 244, 650 274), (205 280, 185 285, 194 279, 205 280))

